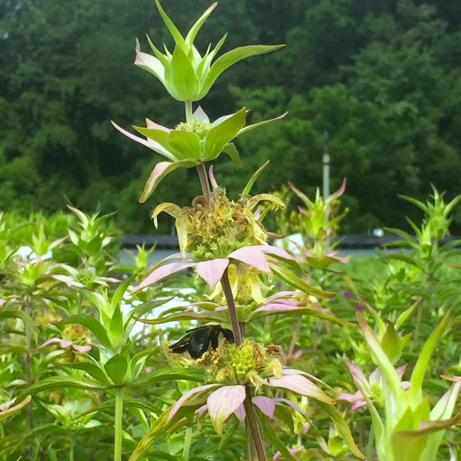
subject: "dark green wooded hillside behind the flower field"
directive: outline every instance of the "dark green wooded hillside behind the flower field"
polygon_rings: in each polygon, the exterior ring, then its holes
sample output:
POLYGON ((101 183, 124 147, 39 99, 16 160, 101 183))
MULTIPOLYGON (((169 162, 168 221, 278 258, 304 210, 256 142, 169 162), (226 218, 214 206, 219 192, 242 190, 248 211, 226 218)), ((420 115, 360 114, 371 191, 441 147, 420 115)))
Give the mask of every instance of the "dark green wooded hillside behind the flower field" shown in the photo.
MULTIPOLYGON (((164 0, 185 31, 209 0, 164 0)), ((242 137, 245 168, 215 167, 231 193, 270 158, 259 190, 321 184, 330 133, 332 189, 347 177, 343 232, 405 227, 430 183, 450 199, 461 184, 461 3, 434 0, 222 0, 197 42, 230 32, 223 51, 287 43, 227 71, 204 102, 217 117, 245 105, 250 121, 290 114, 242 137), (202 39, 202 40, 201 40, 202 39), (270 82, 270 86, 268 83, 270 82)), ((200 193, 195 171, 177 170, 143 206, 153 164, 109 120, 184 118, 160 83, 133 65, 134 38, 149 51, 172 39, 153 0, 3 0, 0 3, 0 209, 53 212, 72 203, 118 210, 127 233, 152 231, 149 211, 200 193), (167 189, 169 190, 167 192, 167 189)), ((256 188, 255 188, 256 192, 256 188)), ((169 230, 162 219, 161 231, 169 230)), ((461 231, 461 214, 453 230, 461 231)))

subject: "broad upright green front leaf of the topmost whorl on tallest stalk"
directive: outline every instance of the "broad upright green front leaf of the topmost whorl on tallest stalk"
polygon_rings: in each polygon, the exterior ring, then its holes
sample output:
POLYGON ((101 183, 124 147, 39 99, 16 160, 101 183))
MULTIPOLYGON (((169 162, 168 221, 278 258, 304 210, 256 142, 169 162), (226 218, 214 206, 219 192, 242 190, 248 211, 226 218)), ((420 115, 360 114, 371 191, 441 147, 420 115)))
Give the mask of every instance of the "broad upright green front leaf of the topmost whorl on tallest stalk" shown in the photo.
POLYGON ((168 87, 174 89, 171 96, 179 101, 194 99, 198 89, 197 77, 194 68, 181 47, 175 46, 171 67, 165 68, 165 82, 168 87))

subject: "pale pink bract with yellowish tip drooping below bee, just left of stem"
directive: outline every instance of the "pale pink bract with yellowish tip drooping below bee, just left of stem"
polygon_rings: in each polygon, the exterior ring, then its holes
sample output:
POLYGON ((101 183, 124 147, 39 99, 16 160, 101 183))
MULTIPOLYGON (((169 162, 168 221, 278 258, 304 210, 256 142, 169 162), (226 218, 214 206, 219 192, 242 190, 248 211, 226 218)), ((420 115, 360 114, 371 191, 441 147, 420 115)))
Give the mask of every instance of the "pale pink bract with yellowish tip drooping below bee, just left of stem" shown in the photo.
POLYGON ((223 434, 223 424, 245 400, 245 386, 224 386, 212 392, 207 399, 208 413, 215 431, 223 434))

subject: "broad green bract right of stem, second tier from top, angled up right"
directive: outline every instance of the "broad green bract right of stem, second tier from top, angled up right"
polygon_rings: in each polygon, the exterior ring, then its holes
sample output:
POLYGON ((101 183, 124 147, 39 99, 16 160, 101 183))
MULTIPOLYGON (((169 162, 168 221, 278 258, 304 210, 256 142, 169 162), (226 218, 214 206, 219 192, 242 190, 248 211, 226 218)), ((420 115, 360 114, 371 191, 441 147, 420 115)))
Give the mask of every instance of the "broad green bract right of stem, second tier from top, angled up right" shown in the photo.
POLYGON ((246 113, 247 109, 243 107, 208 131, 205 141, 206 158, 203 159, 204 161, 215 159, 226 145, 235 138, 240 128, 245 126, 246 113))

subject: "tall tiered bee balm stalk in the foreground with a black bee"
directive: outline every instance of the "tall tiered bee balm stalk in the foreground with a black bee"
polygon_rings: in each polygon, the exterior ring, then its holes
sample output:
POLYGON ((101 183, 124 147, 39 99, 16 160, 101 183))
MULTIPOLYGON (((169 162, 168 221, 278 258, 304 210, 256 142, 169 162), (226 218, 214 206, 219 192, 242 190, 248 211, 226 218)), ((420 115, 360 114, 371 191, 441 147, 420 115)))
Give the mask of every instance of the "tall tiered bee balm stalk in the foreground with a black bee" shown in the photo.
POLYGON ((235 419, 226 432, 228 443, 238 429, 238 422, 245 423, 246 459, 255 456, 260 461, 268 459, 268 449, 278 449, 287 459, 294 459, 273 425, 276 416, 280 418, 280 414, 286 414, 289 409, 303 413, 290 399, 294 395, 304 396, 313 405, 315 402, 321 406, 344 438, 348 450, 363 458, 347 424, 335 409, 335 401, 320 387, 326 385, 309 372, 284 366, 277 345, 261 344, 246 337, 250 322, 271 315, 309 314, 348 324, 320 305, 320 299, 330 298, 334 293, 306 283, 295 257, 268 243, 268 232, 262 220, 268 211, 284 204, 271 194, 250 195, 253 183, 267 163, 250 178, 236 201, 219 187, 213 166, 206 167, 207 162, 223 152, 236 166, 242 166, 232 141, 286 114, 246 125, 245 107, 214 122, 210 122, 200 105, 193 111, 193 102, 202 100, 216 78, 231 65, 249 56, 275 51, 282 45, 240 47, 216 57, 224 36, 213 50, 210 46, 201 55, 194 46, 194 39, 216 4, 205 11, 186 37, 158 2, 157 7, 173 36, 174 50, 171 53, 164 47, 165 53, 162 53, 148 37, 153 55, 141 52, 137 41, 135 64, 157 77, 173 98, 184 102, 185 121, 170 129, 146 119, 146 127, 134 127, 143 137, 113 124, 128 138, 167 159, 153 168, 140 202, 146 201, 165 175, 176 168, 195 167, 203 195, 195 197, 191 205, 184 208, 173 203, 162 203, 155 208, 152 213, 155 224, 161 212, 175 218, 181 253, 153 267, 133 294, 187 268, 193 268, 207 283, 209 294, 172 313, 154 319, 141 316, 136 319, 146 324, 182 320, 214 323, 189 331, 177 343, 163 340, 164 354, 171 363, 203 370, 204 383, 189 388, 177 403, 165 409, 131 454, 130 461, 147 456, 156 437, 165 430, 186 425, 186 439, 190 441, 193 420, 201 427, 207 414, 218 434, 223 434, 225 424, 233 415, 235 419), (257 206, 262 202, 269 206, 261 213, 257 206), (288 283, 294 290, 274 293, 273 277, 288 283), (232 330, 223 326, 229 324, 232 330))

